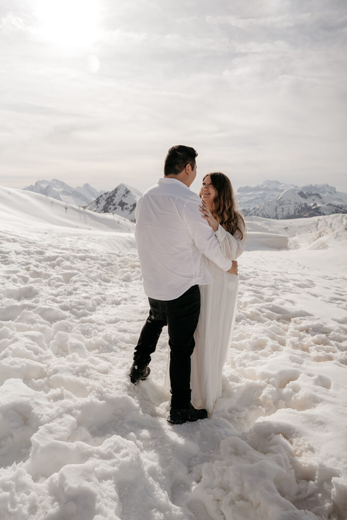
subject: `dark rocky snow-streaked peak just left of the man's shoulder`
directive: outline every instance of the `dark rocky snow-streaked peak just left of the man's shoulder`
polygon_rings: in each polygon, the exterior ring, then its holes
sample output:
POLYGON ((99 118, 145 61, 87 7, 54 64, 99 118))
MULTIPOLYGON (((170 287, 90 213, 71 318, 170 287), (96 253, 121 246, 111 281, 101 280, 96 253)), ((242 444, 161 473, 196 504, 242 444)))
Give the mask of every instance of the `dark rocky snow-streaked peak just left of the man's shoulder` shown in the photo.
POLYGON ((142 196, 135 188, 120 184, 112 191, 106 191, 87 205, 87 210, 97 213, 115 213, 135 222, 135 207, 142 196))

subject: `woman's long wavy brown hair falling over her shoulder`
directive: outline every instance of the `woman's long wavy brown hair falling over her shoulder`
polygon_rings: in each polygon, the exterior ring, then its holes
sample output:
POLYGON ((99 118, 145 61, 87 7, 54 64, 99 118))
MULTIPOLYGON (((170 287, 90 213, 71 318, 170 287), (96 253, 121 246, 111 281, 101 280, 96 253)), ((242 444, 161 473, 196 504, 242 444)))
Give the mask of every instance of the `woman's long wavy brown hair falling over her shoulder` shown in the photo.
MULTIPOLYGON (((202 181, 208 175, 210 175, 212 186, 216 190, 211 214, 231 235, 234 235, 235 231, 239 230, 242 239, 246 232, 245 219, 237 209, 237 202, 229 177, 221 172, 213 172, 206 174, 202 181), (243 224, 243 230, 240 227, 241 223, 243 224)), ((202 197, 202 189, 199 195, 202 197)))

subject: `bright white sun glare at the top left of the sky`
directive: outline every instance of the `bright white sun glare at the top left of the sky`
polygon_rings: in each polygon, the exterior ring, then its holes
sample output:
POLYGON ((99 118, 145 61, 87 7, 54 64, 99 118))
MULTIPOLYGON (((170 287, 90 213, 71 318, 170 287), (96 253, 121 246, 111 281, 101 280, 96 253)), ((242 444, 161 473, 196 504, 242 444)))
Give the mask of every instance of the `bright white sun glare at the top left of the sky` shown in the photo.
POLYGON ((99 35, 98 0, 36 0, 37 33, 66 49, 85 49, 99 35))

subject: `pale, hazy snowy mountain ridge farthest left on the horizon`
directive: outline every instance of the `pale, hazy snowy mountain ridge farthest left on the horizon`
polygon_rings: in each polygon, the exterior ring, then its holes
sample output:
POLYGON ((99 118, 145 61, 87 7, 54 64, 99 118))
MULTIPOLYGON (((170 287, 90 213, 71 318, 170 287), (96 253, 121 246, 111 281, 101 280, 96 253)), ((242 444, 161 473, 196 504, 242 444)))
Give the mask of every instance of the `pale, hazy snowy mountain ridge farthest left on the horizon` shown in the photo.
POLYGON ((52 199, 77 206, 85 206, 99 197, 100 194, 105 193, 105 191, 97 191, 90 184, 72 188, 72 186, 58 179, 37 180, 34 186, 27 186, 24 190, 41 193, 47 197, 52 197, 52 199))

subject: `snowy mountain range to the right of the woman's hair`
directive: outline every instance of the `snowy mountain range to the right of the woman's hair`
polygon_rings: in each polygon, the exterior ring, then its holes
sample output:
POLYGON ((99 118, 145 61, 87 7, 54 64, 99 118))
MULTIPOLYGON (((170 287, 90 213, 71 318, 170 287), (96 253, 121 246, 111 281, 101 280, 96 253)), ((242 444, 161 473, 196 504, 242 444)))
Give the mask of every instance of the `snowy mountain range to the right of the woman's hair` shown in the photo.
POLYGON ((286 219, 347 213, 347 193, 328 184, 295 186, 266 180, 239 188, 236 197, 246 216, 286 219))

